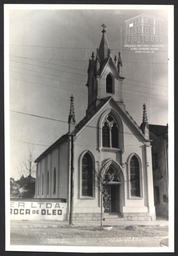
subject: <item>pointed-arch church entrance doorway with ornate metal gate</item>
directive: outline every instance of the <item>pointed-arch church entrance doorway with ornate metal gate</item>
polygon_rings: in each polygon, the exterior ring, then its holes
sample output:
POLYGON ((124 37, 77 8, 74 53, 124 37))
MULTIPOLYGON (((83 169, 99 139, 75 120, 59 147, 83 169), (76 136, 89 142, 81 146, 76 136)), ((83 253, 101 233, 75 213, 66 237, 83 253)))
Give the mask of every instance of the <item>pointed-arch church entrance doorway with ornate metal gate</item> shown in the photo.
POLYGON ((105 172, 103 179, 103 208, 104 212, 120 212, 120 172, 113 165, 110 165, 105 172))

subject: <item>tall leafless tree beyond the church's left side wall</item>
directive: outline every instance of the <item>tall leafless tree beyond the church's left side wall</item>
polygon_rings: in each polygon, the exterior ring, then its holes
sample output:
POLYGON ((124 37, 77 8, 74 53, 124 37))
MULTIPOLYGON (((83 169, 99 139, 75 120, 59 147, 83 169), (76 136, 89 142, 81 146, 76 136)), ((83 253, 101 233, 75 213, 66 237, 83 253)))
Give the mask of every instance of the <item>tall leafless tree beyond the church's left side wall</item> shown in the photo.
POLYGON ((16 167, 16 172, 20 178, 24 176, 24 178, 28 178, 30 180, 31 177, 34 177, 36 170, 34 160, 34 146, 28 144, 28 153, 25 154, 22 159, 19 159, 19 164, 16 167))

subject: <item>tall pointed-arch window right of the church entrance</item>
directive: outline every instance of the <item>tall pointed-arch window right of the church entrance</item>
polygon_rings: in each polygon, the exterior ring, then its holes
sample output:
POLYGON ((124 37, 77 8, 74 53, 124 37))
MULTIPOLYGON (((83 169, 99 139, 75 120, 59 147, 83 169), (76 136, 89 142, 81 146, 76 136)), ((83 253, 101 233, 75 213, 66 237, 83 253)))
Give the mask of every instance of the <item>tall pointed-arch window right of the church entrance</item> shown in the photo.
POLYGON ((132 156, 130 159, 130 189, 131 196, 140 197, 140 171, 136 156, 132 156))

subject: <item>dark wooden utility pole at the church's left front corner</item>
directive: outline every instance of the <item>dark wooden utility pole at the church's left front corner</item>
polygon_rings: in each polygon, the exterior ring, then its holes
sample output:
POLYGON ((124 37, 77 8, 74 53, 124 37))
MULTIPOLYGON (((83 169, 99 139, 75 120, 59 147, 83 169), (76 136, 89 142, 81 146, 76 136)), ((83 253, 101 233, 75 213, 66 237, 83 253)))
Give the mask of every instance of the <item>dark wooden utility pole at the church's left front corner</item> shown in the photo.
POLYGON ((71 198, 70 198, 70 215, 69 225, 73 223, 73 206, 74 206, 74 135, 71 134, 71 198))

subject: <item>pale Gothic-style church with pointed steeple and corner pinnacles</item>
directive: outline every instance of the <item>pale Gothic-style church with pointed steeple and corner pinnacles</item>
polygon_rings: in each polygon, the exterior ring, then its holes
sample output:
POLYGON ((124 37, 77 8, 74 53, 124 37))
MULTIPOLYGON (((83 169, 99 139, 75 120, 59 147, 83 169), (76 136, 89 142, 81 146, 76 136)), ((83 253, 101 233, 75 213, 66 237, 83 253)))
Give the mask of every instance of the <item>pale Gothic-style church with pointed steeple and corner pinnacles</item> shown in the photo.
POLYGON ((102 25, 96 57, 92 52, 88 67, 88 108, 76 124, 71 96, 69 131, 36 160, 37 199, 67 202, 70 212, 71 144, 74 163, 74 220, 99 220, 114 215, 124 220, 156 220, 154 206, 151 140, 143 105, 140 126, 126 111, 122 99, 122 60, 111 56, 102 25), (93 170, 114 173, 103 194, 95 186, 93 170))

